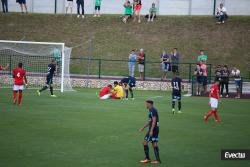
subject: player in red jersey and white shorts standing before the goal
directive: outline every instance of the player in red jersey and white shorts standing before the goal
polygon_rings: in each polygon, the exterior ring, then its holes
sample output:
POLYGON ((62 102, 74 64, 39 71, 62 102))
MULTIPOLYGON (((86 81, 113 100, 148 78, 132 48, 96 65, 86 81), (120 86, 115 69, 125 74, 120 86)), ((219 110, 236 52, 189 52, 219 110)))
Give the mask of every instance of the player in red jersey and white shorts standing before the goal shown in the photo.
POLYGON ((18 67, 15 68, 12 72, 14 78, 14 87, 13 87, 13 103, 16 104, 16 96, 19 92, 18 96, 18 105, 20 106, 22 103, 22 96, 24 90, 24 82, 26 87, 28 86, 26 71, 23 69, 23 63, 18 63, 18 67))

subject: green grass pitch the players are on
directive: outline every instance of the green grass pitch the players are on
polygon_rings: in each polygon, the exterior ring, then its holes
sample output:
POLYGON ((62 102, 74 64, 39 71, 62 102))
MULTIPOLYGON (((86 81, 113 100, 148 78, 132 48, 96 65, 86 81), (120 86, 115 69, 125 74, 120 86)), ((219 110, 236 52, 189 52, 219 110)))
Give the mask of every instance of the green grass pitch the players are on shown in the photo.
MULTIPOLYGON (((13 106, 11 90, 0 90, 1 167, 136 167, 144 158, 138 129, 147 121, 144 101, 152 98, 160 116, 160 155, 166 167, 247 167, 249 161, 221 161, 221 149, 250 148, 249 100, 223 99, 221 125, 202 118, 208 98, 183 97, 183 114, 171 114, 170 94, 136 91, 135 101, 97 99, 96 89, 49 97, 24 92, 13 106), (161 96, 161 97, 157 97, 161 96)), ((151 158, 154 159, 150 147, 151 158)))

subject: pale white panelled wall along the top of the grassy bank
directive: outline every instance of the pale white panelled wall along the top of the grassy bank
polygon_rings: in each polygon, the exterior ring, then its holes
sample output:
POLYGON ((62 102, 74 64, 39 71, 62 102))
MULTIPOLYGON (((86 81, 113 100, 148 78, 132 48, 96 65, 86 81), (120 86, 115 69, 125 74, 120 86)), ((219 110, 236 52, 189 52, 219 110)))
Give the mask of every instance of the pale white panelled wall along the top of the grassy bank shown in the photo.
MULTIPOLYGON (((30 13, 65 13, 66 0, 26 0, 30 13)), ((125 0, 102 1, 104 14, 123 14, 125 0)), ((132 1, 132 0, 131 0, 132 1)), ((11 12, 20 12, 16 0, 8 0, 11 12)), ((229 15, 250 15, 249 0, 142 0, 142 14, 148 13, 152 3, 156 3, 160 15, 213 15, 219 3, 224 3, 229 15)), ((85 12, 94 12, 95 0, 85 0, 85 12)), ((0 10, 2 7, 0 6, 0 10)), ((76 13, 76 0, 73 11, 76 13)))

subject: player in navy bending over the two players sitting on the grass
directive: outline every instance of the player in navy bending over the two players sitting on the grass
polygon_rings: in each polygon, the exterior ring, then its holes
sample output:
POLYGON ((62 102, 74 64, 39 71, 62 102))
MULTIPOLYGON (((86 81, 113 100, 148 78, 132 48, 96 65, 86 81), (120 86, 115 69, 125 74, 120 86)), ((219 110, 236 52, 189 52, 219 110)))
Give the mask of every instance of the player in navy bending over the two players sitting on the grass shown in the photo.
POLYGON ((121 80, 121 83, 124 86, 126 99, 128 99, 128 92, 130 92, 131 98, 134 100, 134 92, 133 88, 136 86, 136 79, 135 77, 126 77, 121 80))

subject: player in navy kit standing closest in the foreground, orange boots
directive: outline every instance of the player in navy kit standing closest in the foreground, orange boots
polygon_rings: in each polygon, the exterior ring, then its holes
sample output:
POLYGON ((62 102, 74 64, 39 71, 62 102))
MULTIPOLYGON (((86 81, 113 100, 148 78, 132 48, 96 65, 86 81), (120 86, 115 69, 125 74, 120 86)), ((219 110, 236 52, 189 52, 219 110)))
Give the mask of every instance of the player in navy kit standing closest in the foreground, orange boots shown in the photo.
POLYGON ((154 108, 154 102, 152 100, 147 100, 146 101, 146 107, 149 110, 149 121, 146 125, 143 126, 139 131, 142 132, 145 128, 149 127, 148 132, 144 138, 143 141, 143 147, 144 147, 144 152, 145 152, 145 159, 141 160, 141 163, 149 163, 151 162, 150 157, 149 157, 149 147, 148 147, 148 142, 152 143, 152 146, 154 148, 154 153, 155 153, 155 161, 152 161, 152 164, 159 164, 161 163, 160 160, 160 154, 159 154, 159 148, 158 148, 158 134, 159 134, 159 116, 156 108, 154 108))

